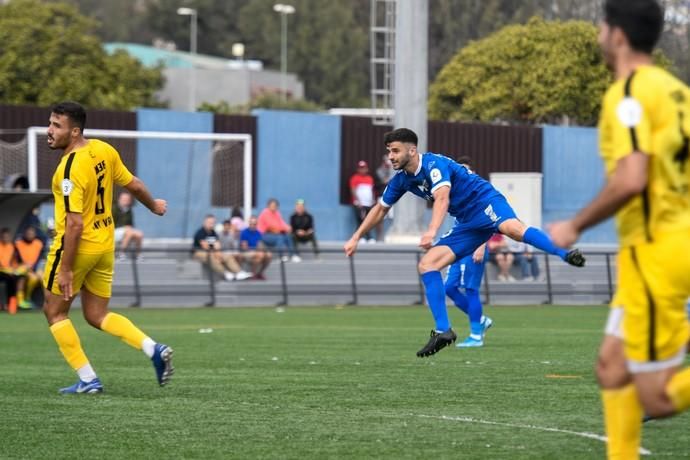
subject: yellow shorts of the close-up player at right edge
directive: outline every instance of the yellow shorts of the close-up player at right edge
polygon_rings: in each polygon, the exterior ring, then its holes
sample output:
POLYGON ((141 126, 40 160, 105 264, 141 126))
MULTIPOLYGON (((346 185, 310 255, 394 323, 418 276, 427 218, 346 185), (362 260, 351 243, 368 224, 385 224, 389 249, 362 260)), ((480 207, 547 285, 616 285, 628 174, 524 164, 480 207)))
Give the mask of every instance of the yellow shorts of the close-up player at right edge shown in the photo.
MULTIPOLYGON (((685 356, 690 338, 685 309, 690 295, 689 242, 684 233, 664 235, 618 254, 618 288, 611 306, 622 309, 619 331, 632 372, 672 367, 685 356)), ((617 322, 614 313, 609 322, 617 322)), ((615 325, 607 325, 608 333, 613 329, 615 325)))

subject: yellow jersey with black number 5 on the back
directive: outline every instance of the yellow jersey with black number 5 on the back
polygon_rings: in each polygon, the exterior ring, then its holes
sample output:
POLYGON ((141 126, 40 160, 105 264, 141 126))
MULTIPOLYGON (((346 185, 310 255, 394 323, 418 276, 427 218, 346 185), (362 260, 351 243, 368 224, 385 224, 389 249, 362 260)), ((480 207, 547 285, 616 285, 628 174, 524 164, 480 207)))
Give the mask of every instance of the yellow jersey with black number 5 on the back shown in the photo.
POLYGON ((134 176, 110 144, 97 139, 63 155, 52 181, 55 197, 55 240, 62 247, 68 212, 82 215, 84 230, 77 252, 101 254, 115 248, 112 216, 113 184, 127 185, 134 176))

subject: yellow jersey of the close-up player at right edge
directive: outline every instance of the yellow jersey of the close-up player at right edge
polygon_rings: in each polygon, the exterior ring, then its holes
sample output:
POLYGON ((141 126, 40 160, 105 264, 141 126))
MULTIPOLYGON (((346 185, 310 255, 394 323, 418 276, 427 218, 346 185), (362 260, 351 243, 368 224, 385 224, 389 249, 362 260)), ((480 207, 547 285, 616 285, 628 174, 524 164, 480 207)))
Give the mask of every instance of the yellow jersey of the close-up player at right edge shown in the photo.
POLYGON ((645 190, 616 213, 621 247, 690 230, 690 89, 665 70, 641 66, 611 85, 599 120, 606 174, 632 152, 649 155, 645 190))

